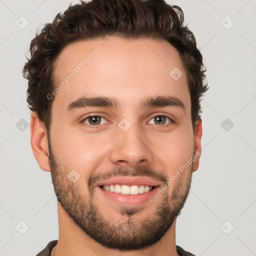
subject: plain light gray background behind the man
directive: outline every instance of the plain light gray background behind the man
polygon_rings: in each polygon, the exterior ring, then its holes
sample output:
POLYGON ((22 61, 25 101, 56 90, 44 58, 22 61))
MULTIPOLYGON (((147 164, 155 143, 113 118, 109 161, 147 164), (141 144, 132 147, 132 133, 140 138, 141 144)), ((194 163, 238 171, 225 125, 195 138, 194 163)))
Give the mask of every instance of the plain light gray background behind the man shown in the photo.
MULTIPOLYGON (((58 239, 50 173, 37 165, 29 127, 18 121, 30 120, 27 83, 21 75, 24 53, 36 28, 51 22, 69 2, 0 0, 1 256, 34 256, 58 239), (25 24, 21 15, 29 21, 24 29, 15 24, 25 24), (20 221, 29 226, 24 234, 20 221)), ((196 36, 210 86, 202 100, 200 167, 177 219, 176 244, 202 256, 256 255, 256 1, 172 3, 181 6, 196 36), (231 27, 227 15, 234 21, 231 27), (222 127, 226 118, 229 124, 222 127)))

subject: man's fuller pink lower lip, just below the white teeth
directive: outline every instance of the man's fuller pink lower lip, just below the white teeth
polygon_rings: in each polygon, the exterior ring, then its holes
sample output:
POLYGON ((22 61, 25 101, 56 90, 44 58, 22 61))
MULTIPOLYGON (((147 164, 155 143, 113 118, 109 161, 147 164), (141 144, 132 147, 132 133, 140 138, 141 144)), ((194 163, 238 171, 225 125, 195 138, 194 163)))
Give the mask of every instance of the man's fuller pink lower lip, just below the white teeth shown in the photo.
POLYGON ((149 202, 149 197, 152 196, 157 191, 158 186, 155 186, 151 191, 142 193, 142 194, 115 193, 115 192, 110 192, 108 190, 105 190, 99 186, 97 186, 97 189, 99 189, 99 191, 101 193, 103 193, 103 195, 106 198, 108 198, 120 205, 135 206, 135 205, 140 205, 145 202, 149 202))

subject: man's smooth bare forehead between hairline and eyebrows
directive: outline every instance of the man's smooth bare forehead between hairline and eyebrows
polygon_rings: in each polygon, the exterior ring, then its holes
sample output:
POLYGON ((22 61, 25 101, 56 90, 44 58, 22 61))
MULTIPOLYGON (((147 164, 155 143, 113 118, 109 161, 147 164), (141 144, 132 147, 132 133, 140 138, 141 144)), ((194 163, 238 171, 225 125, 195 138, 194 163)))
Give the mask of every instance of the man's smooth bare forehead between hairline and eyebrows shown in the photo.
POLYGON ((60 88, 53 104, 63 108, 81 96, 116 97, 134 104, 143 95, 171 95, 190 109, 181 58, 163 39, 110 36, 73 42, 60 52, 53 74, 60 88), (182 75, 174 79, 173 74, 182 75))

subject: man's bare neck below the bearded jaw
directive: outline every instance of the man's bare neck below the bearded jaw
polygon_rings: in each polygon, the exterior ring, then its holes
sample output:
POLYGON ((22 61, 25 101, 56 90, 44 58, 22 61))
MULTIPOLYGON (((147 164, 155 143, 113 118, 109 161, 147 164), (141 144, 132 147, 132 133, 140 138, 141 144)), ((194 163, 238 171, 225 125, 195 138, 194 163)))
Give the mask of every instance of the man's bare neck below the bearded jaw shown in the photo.
POLYGON ((122 252, 106 248, 89 237, 70 219, 58 203, 59 239, 57 245, 52 249, 51 256, 178 256, 175 242, 175 224, 176 220, 155 244, 140 250, 122 252))

